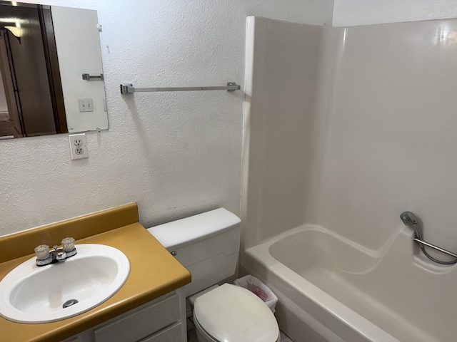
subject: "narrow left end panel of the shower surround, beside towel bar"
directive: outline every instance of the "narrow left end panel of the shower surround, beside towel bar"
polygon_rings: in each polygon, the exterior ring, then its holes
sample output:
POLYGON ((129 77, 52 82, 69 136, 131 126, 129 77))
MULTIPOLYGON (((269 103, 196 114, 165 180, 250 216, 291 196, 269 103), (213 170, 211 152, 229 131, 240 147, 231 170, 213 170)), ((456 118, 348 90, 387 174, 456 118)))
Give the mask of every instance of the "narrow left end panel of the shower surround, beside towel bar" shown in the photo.
POLYGON ((248 246, 303 222, 320 31, 248 18, 242 195, 248 246))

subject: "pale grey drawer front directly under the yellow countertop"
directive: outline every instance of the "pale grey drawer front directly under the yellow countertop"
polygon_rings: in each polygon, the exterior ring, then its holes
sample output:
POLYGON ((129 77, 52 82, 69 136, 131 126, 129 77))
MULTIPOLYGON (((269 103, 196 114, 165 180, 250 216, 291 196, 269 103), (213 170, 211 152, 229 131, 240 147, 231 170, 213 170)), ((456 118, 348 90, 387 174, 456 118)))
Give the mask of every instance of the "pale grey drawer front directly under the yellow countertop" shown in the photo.
MULTIPOLYGON (((151 304, 145 308, 96 328, 96 342, 135 342, 169 326, 179 319, 179 295, 151 304)), ((153 340, 154 341, 154 340, 153 340)))

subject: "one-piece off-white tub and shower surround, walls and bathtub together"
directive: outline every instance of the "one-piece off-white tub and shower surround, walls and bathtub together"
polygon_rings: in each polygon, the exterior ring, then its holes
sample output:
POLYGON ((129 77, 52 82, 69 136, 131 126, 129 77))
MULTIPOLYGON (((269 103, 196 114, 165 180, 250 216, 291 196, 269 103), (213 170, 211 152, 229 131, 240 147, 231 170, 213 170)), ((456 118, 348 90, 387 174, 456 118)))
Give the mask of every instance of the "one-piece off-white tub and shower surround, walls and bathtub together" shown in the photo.
POLYGON ((296 341, 456 335, 446 313, 457 301, 443 290, 456 271, 424 259, 399 219, 415 212, 426 241, 457 252, 455 56, 456 19, 344 28, 248 18, 241 266, 279 292, 278 321, 296 341), (278 242, 293 229, 307 233, 278 242), (337 261, 364 275, 341 276, 337 261), (354 315, 365 323, 351 325, 354 315))

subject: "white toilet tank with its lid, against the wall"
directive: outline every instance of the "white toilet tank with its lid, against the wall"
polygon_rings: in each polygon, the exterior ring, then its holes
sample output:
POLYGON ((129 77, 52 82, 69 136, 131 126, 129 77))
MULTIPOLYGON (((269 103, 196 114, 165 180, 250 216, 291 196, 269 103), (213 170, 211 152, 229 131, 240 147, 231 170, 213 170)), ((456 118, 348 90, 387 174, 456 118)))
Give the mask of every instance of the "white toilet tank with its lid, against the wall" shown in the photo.
POLYGON ((224 208, 147 229, 191 272, 186 296, 233 276, 241 220, 224 208))

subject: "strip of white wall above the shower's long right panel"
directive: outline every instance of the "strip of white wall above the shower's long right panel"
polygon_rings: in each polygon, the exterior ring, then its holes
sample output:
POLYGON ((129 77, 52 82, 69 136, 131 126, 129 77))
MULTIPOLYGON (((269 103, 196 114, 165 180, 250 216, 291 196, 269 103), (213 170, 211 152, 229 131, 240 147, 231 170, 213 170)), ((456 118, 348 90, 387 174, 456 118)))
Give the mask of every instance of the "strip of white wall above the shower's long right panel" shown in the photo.
POLYGON ((455 0, 335 0, 333 7, 333 26, 455 17, 455 0))

